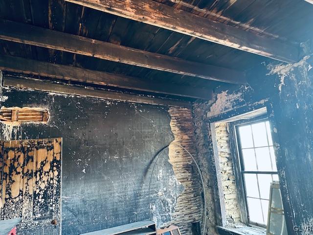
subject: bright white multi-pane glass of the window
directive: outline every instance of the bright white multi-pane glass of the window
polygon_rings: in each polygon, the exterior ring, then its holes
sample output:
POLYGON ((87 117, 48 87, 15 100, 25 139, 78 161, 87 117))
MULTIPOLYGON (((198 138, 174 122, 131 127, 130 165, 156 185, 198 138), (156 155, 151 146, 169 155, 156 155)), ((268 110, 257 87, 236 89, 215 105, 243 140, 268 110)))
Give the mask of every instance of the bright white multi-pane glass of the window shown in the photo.
POLYGON ((270 184, 278 181, 270 123, 244 124, 237 132, 248 219, 254 225, 267 225, 270 184))

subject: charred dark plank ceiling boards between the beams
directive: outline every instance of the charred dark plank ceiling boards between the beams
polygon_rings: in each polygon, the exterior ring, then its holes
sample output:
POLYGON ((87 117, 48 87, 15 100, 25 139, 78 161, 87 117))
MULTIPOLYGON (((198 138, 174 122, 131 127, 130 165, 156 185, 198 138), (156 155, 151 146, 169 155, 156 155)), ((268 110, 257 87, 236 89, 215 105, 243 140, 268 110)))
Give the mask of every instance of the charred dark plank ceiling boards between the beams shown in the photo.
MULTIPOLYGON (((156 0, 156 2, 243 31, 252 32, 260 37, 266 37, 268 40, 278 40, 284 45, 291 45, 291 47, 299 47, 300 43, 306 42, 312 37, 309 33, 309 26, 298 26, 313 22, 313 5, 304 0, 156 0)), ((143 53, 152 52, 163 56, 177 57, 184 63, 191 65, 194 63, 194 65, 200 65, 199 68, 201 68, 201 65, 203 65, 203 68, 207 67, 207 70, 210 71, 198 70, 197 72, 207 72, 208 79, 210 79, 210 76, 212 77, 212 68, 218 67, 221 68, 221 71, 230 70, 233 71, 233 74, 242 74, 255 65, 270 60, 260 55, 150 24, 140 23, 65 0, 0 0, 0 19, 79 35, 108 42, 113 46, 120 45, 146 51, 143 53)), ((15 30, 17 32, 21 31, 19 28, 15 28, 15 30)), ((29 33, 31 34, 31 32, 29 33)), ((62 41, 62 38, 58 38, 58 40, 62 41)), ((168 68, 162 71, 162 68, 168 66, 167 63, 163 62, 157 65, 155 62, 153 66, 150 64, 149 66, 138 66, 134 63, 125 63, 125 61, 119 63, 120 60, 116 59, 110 61, 107 58, 101 59, 101 57, 96 58, 96 56, 84 53, 74 53, 73 50, 61 50, 58 47, 51 47, 51 45, 46 48, 39 47, 40 44, 19 43, 18 39, 13 41, 15 42, 0 40, 0 54, 75 66, 90 71, 125 75, 137 79, 136 83, 142 81, 143 87, 151 83, 153 85, 163 84, 164 86, 167 84, 168 87, 179 85, 189 87, 191 90, 195 89, 195 91, 202 89, 199 94, 204 95, 199 95, 199 98, 210 97, 212 89, 223 84, 221 81, 230 83, 245 82, 242 75, 233 75, 233 81, 203 79, 203 74, 193 73, 196 67, 192 66, 183 66, 179 72, 173 72, 168 68), (193 68, 192 72, 190 72, 190 68, 193 68), (189 71, 181 72, 183 69, 189 71), (208 93, 207 96, 205 91, 208 93)), ((153 55, 155 56, 155 54, 153 55)), ((144 64, 143 62, 140 63, 144 64)), ((36 74, 36 76, 45 75, 49 74, 36 74)), ((221 77, 220 74, 216 76, 221 77)), ((52 77, 58 78, 57 75, 52 77)), ((141 91, 137 89, 138 87, 140 86, 134 86, 134 89, 141 91)), ((130 89, 131 86, 121 86, 121 88, 130 89)), ((160 93, 167 96, 177 95, 176 91, 172 92, 173 89, 169 90, 171 91, 161 91, 160 93)), ((153 90, 148 89, 146 91, 151 92, 153 90)), ((198 92, 193 92, 193 94, 195 93, 198 92)), ((179 96, 196 98, 193 94, 179 94, 179 96)))

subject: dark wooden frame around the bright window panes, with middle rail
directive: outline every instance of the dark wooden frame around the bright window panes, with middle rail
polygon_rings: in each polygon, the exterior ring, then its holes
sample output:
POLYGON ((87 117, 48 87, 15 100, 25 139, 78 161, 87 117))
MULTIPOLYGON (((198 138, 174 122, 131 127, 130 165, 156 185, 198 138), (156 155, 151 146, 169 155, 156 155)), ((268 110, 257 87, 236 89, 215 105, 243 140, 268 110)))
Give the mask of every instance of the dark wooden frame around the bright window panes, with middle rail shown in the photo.
MULTIPOLYGON (((243 162, 243 154, 241 148, 241 141, 238 134, 238 128, 240 126, 254 124, 258 122, 269 121, 267 115, 262 115, 256 118, 250 119, 241 119, 238 121, 233 121, 229 123, 229 134, 230 134, 230 148, 231 148, 231 155, 233 160, 233 168, 235 174, 235 180, 237 183, 237 190, 238 190, 238 199, 239 199, 239 209, 241 213, 241 219, 244 224, 247 226, 257 226, 261 228, 266 228, 267 226, 264 224, 259 224, 256 222, 252 222, 249 219, 249 212, 248 212, 248 204, 247 204, 247 194, 246 194, 246 184, 245 184, 245 173, 255 173, 255 174, 277 174, 277 171, 245 171, 244 169, 244 162, 243 162)), ((271 134, 271 133, 268 133, 271 134)), ((258 186, 259 188, 259 186, 258 186)), ((260 189, 259 189, 260 190, 260 189)))

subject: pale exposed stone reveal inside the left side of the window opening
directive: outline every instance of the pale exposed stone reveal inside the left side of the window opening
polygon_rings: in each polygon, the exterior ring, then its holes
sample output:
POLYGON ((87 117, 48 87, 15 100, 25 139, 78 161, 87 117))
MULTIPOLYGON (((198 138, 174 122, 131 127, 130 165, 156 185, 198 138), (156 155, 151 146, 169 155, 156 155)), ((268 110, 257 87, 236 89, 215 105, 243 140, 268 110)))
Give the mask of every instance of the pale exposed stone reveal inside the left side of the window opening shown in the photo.
POLYGON ((233 161, 230 149, 229 124, 215 124, 215 136, 220 160, 221 180, 223 186, 227 225, 240 222, 240 210, 236 188, 233 161))

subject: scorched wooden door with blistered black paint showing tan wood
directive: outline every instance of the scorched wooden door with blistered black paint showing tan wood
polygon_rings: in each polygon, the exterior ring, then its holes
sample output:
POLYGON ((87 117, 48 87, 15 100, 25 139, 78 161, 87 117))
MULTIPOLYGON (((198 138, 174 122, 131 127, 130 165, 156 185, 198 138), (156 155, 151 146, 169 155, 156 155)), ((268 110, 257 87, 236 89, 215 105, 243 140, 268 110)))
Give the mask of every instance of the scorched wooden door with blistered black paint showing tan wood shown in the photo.
POLYGON ((0 219, 21 217, 18 234, 60 234, 61 146, 61 138, 3 142, 0 219))

